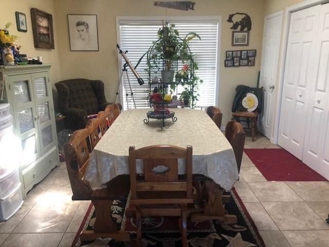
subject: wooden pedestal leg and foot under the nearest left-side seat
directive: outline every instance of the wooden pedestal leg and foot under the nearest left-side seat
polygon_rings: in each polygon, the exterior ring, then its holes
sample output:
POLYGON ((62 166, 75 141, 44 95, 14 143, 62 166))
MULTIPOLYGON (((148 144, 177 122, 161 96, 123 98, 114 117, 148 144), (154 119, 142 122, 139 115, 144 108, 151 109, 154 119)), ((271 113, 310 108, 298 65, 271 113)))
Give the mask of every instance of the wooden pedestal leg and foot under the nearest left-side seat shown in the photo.
POLYGON ((130 235, 127 232, 117 231, 117 227, 111 216, 111 206, 113 200, 92 200, 96 220, 94 231, 82 231, 80 238, 82 241, 92 241, 96 238, 114 238, 117 241, 130 241, 130 235))

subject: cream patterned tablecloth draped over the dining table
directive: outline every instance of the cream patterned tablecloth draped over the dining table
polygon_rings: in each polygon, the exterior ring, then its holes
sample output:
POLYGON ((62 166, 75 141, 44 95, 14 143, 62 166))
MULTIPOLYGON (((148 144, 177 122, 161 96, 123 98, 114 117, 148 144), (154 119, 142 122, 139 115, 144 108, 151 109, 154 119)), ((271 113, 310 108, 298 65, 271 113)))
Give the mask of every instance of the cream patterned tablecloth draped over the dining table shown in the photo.
MULTIPOLYGON (((193 147, 193 174, 203 174, 216 184, 230 190, 239 178, 233 149, 223 133, 204 111, 174 109, 176 122, 166 122, 168 129, 159 128, 159 120, 144 123, 150 109, 123 111, 96 145, 84 179, 94 190, 120 174, 129 174, 129 147, 136 149, 160 144, 193 147)), ((137 172, 141 172, 137 162, 137 172)), ((179 161, 178 172, 185 172, 179 161)))

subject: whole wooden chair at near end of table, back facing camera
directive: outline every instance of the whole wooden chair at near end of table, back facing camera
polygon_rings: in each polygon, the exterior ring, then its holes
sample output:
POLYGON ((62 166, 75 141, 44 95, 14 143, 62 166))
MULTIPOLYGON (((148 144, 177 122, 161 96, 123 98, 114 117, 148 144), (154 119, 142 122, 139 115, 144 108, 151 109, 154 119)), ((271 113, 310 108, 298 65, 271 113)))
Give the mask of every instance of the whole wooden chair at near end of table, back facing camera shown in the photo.
POLYGON ((142 209, 147 207, 156 215, 163 214, 166 207, 180 207, 182 246, 187 247, 187 205, 192 199, 192 147, 180 148, 170 145, 149 146, 135 150, 129 148, 131 204, 136 209, 137 246, 141 246, 142 209), (178 158, 185 159, 186 177, 178 179, 178 158), (143 162, 143 177, 136 172, 136 160, 143 162), (154 210, 153 210, 154 208, 154 210), (165 208, 165 209, 163 209, 165 208), (160 209, 157 210, 157 209, 160 209))

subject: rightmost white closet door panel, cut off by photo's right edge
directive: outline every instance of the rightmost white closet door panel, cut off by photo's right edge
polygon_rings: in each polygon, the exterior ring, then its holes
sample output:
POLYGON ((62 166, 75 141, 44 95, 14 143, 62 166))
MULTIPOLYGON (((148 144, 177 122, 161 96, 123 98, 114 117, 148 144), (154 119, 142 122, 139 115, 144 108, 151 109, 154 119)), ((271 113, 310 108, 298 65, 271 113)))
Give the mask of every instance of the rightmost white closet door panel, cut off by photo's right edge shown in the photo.
POLYGON ((329 179, 329 4, 321 6, 303 162, 329 179))

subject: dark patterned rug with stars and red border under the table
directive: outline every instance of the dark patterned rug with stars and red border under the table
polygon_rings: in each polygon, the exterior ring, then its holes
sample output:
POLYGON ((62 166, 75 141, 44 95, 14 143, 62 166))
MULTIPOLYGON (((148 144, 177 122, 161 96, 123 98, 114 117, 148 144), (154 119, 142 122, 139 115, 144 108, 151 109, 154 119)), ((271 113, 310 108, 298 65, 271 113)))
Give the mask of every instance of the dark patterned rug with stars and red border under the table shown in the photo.
MULTIPOLYGON (((230 195, 226 193, 226 195, 230 195)), ((251 247, 265 246, 259 232, 250 218, 236 191, 231 191, 232 199, 226 204, 228 214, 237 217, 237 224, 226 225, 220 221, 205 221, 199 223, 190 222, 188 219, 188 242, 192 247, 251 247)), ((131 238, 136 238, 135 219, 125 217, 124 209, 129 205, 129 199, 115 201, 112 206, 112 217, 117 220, 118 230, 131 233, 131 238)), ((180 232, 178 228, 178 217, 143 217, 142 238, 143 247, 178 247, 181 246, 180 232)), ((93 242, 81 242, 79 235, 82 230, 93 230, 95 222, 95 209, 90 204, 80 229, 71 247, 90 246, 130 246, 127 242, 116 242, 111 238, 98 238, 93 242)))

